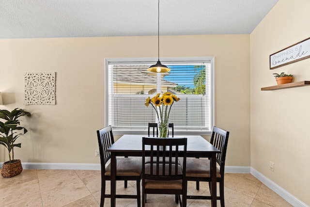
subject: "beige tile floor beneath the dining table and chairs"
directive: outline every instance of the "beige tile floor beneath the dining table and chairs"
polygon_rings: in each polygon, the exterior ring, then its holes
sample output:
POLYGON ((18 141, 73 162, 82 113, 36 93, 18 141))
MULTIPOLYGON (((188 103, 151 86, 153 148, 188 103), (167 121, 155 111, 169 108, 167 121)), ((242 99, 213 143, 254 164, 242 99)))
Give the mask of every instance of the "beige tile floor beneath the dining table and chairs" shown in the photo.
MULTIPOLYGON (((109 182, 107 183, 109 189, 109 182)), ((0 176, 0 207, 99 207, 100 171, 27 170, 11 178, 0 176)), ((107 190, 108 191, 108 190, 107 190)), ((117 183, 117 192, 136 192, 135 182, 117 183)), ((201 182, 200 191, 189 182, 188 193, 208 193, 201 182)), ((109 207, 110 199, 105 200, 109 207)), ((116 199, 118 207, 136 207, 135 199, 116 199)), ((226 207, 291 207, 284 199, 250 174, 225 174, 226 207)), ((148 195, 146 207, 178 207, 174 195, 148 195)), ((188 207, 210 207, 210 201, 187 200, 188 207)), ((219 201, 218 201, 219 206, 219 201)))

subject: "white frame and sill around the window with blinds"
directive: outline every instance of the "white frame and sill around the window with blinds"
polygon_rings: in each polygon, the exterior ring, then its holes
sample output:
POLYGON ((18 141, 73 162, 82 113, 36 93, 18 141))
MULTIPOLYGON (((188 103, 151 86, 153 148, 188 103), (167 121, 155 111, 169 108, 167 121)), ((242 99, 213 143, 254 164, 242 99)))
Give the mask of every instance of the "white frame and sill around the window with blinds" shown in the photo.
MULTIPOLYGON (((105 59, 105 123, 109 124, 109 64, 150 64, 155 63, 155 58, 107 58, 105 59)), ((205 62, 210 61, 210 81, 211 81, 211 89, 210 89, 210 110, 211 110, 211 118, 210 118, 210 129, 205 130, 197 130, 197 129, 186 129, 184 127, 178 127, 177 130, 174 130, 175 135, 211 135, 212 128, 215 123, 215 75, 214 75, 214 67, 215 67, 215 57, 173 57, 173 58, 160 58, 160 61, 163 64, 169 65, 174 63, 197 63, 197 62, 205 62)), ((147 134, 147 126, 143 127, 139 130, 134 129, 113 129, 113 134, 115 135, 123 135, 123 134, 137 134, 137 135, 146 135, 147 134)))

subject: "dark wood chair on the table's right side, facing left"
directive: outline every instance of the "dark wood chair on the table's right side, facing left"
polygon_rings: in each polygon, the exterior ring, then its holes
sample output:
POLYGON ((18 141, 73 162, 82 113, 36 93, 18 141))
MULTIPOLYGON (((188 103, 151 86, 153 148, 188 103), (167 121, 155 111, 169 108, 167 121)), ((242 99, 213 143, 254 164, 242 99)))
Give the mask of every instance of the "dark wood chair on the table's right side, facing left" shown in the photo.
MULTIPOLYGON (((219 182, 219 196, 217 200, 220 200, 221 207, 225 207, 224 203, 224 169, 225 158, 228 143, 229 131, 225 131, 216 126, 213 127, 211 135, 211 141, 218 150, 221 151, 217 154, 217 182, 219 182)), ((182 163, 182 161, 180 161, 182 163)), ((209 189, 211 189, 211 171, 210 171, 210 159, 196 159, 189 158, 186 160, 186 180, 196 181, 196 189, 199 190, 199 182, 209 182, 209 189)), ((202 195, 187 195, 187 199, 211 199, 211 196, 202 195)))

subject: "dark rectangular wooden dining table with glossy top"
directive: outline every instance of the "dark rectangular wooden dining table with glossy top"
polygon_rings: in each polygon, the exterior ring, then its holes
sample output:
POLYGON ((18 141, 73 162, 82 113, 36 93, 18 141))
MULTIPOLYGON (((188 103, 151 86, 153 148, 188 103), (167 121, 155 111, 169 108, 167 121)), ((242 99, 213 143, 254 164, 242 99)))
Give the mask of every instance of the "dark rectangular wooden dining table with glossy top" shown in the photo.
MULTIPOLYGON (((111 207, 116 206, 116 157, 117 156, 135 156, 142 157, 142 135, 123 135, 109 148, 111 153, 111 207)), ((145 136, 147 137, 147 136, 145 136)), ((211 206, 217 206, 217 173, 216 173, 216 155, 220 151, 202 136, 174 136, 187 138, 186 157, 192 158, 210 158, 211 159, 211 206)))

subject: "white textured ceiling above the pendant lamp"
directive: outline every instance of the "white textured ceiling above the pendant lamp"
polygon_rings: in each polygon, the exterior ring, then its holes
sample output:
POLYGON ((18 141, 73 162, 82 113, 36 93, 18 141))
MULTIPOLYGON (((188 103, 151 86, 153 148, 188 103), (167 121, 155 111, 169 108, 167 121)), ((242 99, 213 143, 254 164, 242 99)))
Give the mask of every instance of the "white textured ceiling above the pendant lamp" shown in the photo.
MULTIPOLYGON (((249 34, 278 0, 161 0, 160 35, 249 34)), ((157 0, 0 0, 0 39, 157 35, 157 0)))

